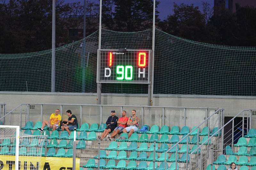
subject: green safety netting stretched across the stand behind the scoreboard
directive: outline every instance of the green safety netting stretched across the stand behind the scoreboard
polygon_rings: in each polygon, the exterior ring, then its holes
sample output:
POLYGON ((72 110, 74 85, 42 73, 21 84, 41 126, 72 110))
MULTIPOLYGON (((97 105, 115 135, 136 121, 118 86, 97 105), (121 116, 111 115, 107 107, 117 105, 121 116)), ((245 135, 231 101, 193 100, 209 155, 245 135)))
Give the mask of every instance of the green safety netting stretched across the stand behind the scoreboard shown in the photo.
MULTIPOLYGON (((98 40, 97 31, 56 48, 56 92, 97 92, 98 40)), ((152 29, 103 29, 101 49, 120 48, 150 50, 152 29)), ((156 29, 154 94, 255 96, 255 55, 255 47, 199 43, 156 29)), ((0 54, 0 91, 50 92, 51 56, 51 50, 0 54)), ((146 94, 148 85, 102 84, 102 93, 146 94)))

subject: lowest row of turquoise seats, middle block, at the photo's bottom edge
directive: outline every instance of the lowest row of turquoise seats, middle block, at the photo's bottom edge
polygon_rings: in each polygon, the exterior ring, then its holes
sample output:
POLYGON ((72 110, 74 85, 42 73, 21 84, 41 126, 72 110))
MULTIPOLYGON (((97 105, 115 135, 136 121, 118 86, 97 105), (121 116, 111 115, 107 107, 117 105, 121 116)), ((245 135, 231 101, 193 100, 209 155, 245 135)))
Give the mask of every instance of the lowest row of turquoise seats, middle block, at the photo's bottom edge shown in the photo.
MULTIPOLYGON (((117 165, 116 165, 116 161, 115 160, 109 160, 108 164, 106 165, 106 162, 104 159, 100 159, 100 168, 104 168, 104 169, 127 169, 127 170, 153 170, 153 162, 149 162, 149 164, 147 164, 146 161, 141 161, 139 163, 139 165, 137 166, 136 161, 131 160, 130 162, 128 162, 128 164, 126 165, 126 161, 125 160, 120 160, 118 161, 117 165)), ((95 160, 94 159, 89 159, 87 161, 87 164, 83 166, 84 168, 98 168, 98 164, 95 164, 95 160)), ((168 164, 166 162, 162 162, 159 167, 157 166, 157 163, 155 162, 155 169, 156 170, 175 170, 175 163, 172 163, 171 166, 168 166, 168 164)), ((177 164, 177 170, 179 169, 179 164, 177 164)))

